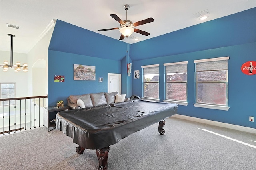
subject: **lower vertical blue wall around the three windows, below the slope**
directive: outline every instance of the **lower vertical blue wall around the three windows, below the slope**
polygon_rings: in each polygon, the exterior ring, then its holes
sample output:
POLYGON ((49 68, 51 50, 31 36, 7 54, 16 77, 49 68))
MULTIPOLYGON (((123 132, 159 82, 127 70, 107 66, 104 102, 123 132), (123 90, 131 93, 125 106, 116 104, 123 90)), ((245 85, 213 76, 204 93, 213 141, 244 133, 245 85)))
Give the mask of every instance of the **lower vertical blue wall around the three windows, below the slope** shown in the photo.
MULTIPOLYGON (((180 55, 133 61, 134 70, 142 72, 142 65, 160 64, 159 98, 164 99, 164 63, 188 61, 188 106, 180 105, 178 114, 256 128, 249 116, 256 117, 256 74, 245 75, 240 68, 246 61, 256 61, 256 43, 247 43, 180 55), (228 111, 194 107, 194 60, 229 56, 228 61, 228 111)), ((133 79, 132 92, 142 96, 142 75, 133 79)))

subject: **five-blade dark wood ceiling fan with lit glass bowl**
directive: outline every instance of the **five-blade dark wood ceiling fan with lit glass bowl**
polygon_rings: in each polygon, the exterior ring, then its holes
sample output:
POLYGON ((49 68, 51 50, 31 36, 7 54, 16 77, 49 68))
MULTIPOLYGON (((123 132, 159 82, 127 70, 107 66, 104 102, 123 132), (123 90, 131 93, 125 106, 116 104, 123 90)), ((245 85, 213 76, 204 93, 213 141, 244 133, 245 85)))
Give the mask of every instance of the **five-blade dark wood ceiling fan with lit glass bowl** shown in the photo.
POLYGON ((114 29, 119 29, 121 34, 121 37, 119 40, 124 39, 124 37, 129 37, 133 32, 136 33, 140 33, 142 35, 150 35, 150 33, 146 32, 146 31, 142 31, 140 29, 136 29, 134 27, 139 26, 139 25, 143 25, 146 23, 150 23, 150 22, 154 22, 155 20, 153 18, 147 18, 145 20, 141 20, 138 22, 133 23, 130 20, 127 20, 127 10, 130 8, 129 5, 124 5, 124 9, 126 10, 126 20, 121 20, 116 14, 110 14, 110 16, 112 16, 112 18, 114 18, 116 21, 118 21, 120 23, 120 28, 109 28, 109 29, 99 29, 98 31, 108 31, 108 30, 114 30, 114 29))

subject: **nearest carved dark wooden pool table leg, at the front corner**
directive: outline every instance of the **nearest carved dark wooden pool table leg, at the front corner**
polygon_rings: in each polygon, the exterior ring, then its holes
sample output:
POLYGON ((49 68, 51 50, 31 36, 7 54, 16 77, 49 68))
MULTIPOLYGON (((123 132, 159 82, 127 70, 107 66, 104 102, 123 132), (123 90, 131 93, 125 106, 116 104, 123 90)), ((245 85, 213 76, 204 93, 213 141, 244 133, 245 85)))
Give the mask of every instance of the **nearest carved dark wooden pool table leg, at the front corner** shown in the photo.
POLYGON ((99 160, 99 168, 98 170, 107 170, 108 169, 108 152, 109 147, 105 147, 102 149, 96 149, 96 154, 99 160))

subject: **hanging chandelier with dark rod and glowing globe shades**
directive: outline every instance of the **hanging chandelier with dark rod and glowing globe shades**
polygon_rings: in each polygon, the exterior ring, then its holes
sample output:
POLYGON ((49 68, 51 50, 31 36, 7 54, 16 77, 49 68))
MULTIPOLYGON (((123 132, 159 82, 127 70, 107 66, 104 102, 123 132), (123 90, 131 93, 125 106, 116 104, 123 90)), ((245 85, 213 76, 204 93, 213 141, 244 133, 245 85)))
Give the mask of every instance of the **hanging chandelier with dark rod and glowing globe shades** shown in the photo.
POLYGON ((12 34, 7 34, 8 36, 10 36, 10 65, 8 65, 8 61, 4 61, 4 64, 3 65, 0 65, 0 67, 3 68, 3 71, 7 71, 8 68, 14 68, 14 71, 15 72, 19 72, 21 70, 21 68, 23 68, 23 72, 27 72, 28 71, 28 64, 27 63, 24 63, 22 66, 20 64, 20 62, 16 62, 16 65, 13 65, 13 43, 12 43, 12 39, 13 37, 15 37, 15 35, 12 35, 12 34))

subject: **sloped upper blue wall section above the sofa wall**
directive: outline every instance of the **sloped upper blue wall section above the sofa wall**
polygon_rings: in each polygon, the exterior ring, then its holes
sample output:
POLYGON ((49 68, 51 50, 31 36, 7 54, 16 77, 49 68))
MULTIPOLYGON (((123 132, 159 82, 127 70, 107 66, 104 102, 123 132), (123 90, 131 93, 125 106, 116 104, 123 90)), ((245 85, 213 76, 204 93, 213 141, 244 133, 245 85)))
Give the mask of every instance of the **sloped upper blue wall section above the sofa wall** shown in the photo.
POLYGON ((127 43, 57 20, 48 49, 121 61, 127 43))

